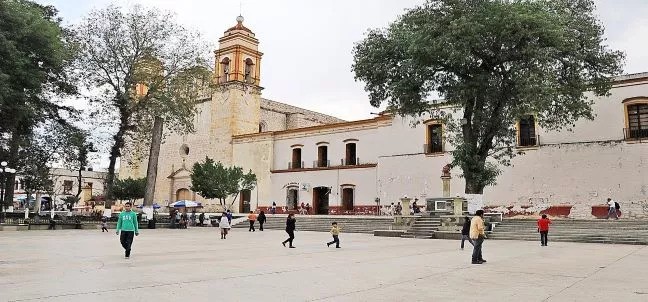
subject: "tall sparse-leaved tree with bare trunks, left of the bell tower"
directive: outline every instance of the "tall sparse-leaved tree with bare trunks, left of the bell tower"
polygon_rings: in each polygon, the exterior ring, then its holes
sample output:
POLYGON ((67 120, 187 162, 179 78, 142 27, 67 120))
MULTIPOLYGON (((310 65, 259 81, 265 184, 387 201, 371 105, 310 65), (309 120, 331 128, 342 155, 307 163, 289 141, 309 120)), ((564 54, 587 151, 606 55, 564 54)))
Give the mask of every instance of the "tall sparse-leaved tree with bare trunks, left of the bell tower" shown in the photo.
MULTIPOLYGON (((84 85, 99 92, 92 100, 101 115, 116 124, 106 180, 110 202, 116 162, 127 143, 129 152, 139 153, 151 144, 159 146, 163 126, 169 131, 193 131, 197 95, 204 87, 200 85, 209 83, 202 72, 207 48, 170 13, 140 6, 93 11, 74 32, 79 46, 77 70, 84 85), (157 141, 151 143, 152 136, 157 141)), ((155 165, 149 165, 149 175, 157 170, 155 150, 151 149, 154 155, 149 161, 155 165)), ((129 157, 137 161, 144 156, 129 157)), ((149 185, 154 185, 155 177, 149 178, 149 185)))

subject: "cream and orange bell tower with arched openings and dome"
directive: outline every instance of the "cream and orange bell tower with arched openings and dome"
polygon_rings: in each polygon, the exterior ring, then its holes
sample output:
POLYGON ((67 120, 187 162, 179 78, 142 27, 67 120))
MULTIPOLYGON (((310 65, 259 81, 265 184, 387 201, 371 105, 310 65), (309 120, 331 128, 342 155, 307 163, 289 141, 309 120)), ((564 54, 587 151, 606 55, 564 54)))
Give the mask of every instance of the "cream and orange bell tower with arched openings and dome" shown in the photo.
POLYGON ((243 17, 218 39, 214 51, 214 94, 211 104, 212 149, 216 160, 232 164, 232 136, 256 133, 261 119, 259 40, 243 25, 243 17))

